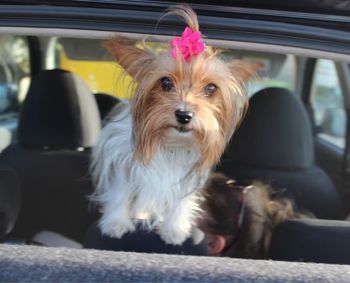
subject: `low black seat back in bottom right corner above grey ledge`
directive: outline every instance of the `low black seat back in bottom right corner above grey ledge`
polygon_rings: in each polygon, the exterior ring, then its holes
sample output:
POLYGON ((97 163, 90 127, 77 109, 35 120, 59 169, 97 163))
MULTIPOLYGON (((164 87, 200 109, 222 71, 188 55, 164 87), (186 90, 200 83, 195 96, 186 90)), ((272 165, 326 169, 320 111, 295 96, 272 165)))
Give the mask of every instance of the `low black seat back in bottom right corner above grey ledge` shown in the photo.
POLYGON ((350 264, 350 222, 288 220, 274 228, 269 258, 350 264))

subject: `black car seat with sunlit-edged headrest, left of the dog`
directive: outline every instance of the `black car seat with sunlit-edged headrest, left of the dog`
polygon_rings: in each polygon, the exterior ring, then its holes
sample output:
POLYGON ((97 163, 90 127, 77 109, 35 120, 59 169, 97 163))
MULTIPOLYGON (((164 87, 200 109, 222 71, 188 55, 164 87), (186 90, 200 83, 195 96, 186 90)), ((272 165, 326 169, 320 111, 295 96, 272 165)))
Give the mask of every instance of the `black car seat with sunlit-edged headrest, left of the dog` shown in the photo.
POLYGON ((18 143, 0 154, 21 183, 13 236, 49 230, 81 241, 95 219, 87 196, 90 148, 100 132, 94 96, 78 76, 59 69, 32 80, 21 109, 18 143))

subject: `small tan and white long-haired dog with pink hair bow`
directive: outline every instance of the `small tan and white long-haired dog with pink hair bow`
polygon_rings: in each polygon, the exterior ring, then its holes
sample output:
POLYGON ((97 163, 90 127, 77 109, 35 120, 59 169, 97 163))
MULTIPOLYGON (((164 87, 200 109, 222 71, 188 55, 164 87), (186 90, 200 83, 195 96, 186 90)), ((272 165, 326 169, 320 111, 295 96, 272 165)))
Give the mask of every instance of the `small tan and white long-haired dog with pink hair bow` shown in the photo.
POLYGON ((191 235, 201 188, 245 111, 244 84, 259 65, 210 52, 188 6, 169 13, 188 25, 169 52, 156 55, 125 38, 105 44, 133 77, 134 93, 112 111, 91 169, 103 234, 120 238, 145 219, 176 245, 191 235))

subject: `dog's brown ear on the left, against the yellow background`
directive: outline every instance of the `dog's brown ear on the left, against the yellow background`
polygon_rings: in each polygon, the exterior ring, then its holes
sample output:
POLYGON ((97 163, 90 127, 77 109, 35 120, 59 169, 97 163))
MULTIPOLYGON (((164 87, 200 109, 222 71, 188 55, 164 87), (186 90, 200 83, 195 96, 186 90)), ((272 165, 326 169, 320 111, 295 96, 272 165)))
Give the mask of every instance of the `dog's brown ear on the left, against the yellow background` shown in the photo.
POLYGON ((113 59, 132 77, 137 76, 142 66, 147 66, 154 58, 151 52, 135 47, 134 43, 125 37, 115 37, 103 43, 113 59))

